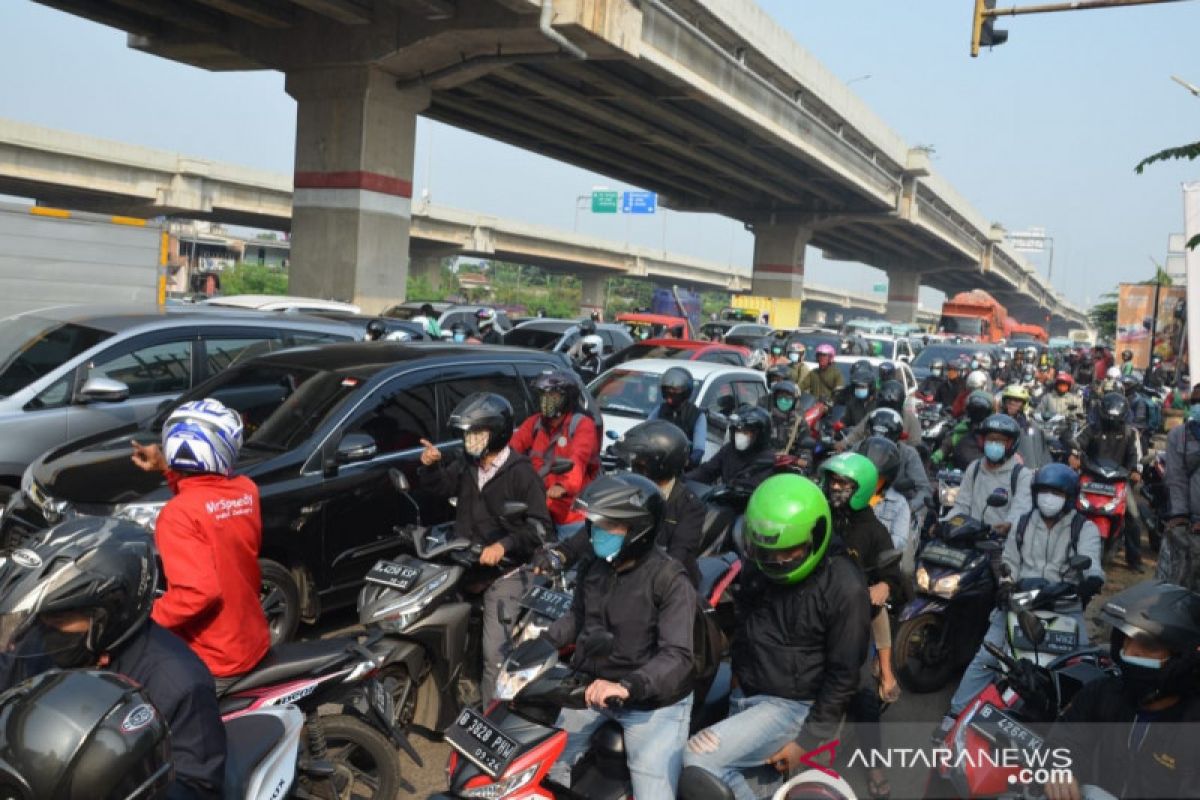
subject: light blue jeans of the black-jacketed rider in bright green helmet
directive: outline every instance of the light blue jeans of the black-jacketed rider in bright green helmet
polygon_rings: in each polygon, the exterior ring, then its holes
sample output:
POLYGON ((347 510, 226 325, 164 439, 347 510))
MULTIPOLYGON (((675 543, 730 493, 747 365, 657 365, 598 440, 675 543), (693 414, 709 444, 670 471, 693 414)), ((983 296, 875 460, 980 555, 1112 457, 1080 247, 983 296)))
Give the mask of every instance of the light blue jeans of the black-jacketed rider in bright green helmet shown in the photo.
POLYGON ((800 733, 812 703, 757 694, 745 697, 734 690, 730 697, 730 716, 708 728, 719 744, 710 753, 683 754, 685 766, 700 766, 733 789, 738 800, 758 796, 742 770, 761 768, 800 733))

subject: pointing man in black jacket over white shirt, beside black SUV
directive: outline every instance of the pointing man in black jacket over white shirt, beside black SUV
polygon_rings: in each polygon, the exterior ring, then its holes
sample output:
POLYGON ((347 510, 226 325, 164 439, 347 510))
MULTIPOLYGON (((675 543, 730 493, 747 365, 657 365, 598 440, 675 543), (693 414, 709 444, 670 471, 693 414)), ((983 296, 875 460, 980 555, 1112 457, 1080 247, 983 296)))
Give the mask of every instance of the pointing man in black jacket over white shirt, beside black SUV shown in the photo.
POLYGON ((511 644, 504 620, 516 613, 529 584, 522 570, 502 575, 529 560, 553 530, 546 510, 546 489, 529 459, 509 449, 512 407, 499 395, 478 392, 458 403, 450 427, 462 432, 463 456, 444 459, 433 444, 421 440, 421 488, 443 497, 457 497, 455 534, 484 546, 479 563, 487 567, 480 578, 491 585, 484 593, 482 684, 484 702, 496 691, 500 662, 511 644), (522 503, 524 515, 503 516, 506 501, 522 503))

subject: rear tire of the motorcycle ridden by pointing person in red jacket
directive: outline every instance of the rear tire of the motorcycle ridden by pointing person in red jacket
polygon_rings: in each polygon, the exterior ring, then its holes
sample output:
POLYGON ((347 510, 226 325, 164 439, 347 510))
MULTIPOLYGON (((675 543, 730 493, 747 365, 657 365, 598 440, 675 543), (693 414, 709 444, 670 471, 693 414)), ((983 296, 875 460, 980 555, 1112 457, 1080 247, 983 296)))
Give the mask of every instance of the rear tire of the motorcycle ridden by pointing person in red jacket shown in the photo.
POLYGON ((400 756, 391 741, 343 714, 322 717, 325 760, 334 765, 334 787, 342 800, 392 800, 400 792, 400 756))

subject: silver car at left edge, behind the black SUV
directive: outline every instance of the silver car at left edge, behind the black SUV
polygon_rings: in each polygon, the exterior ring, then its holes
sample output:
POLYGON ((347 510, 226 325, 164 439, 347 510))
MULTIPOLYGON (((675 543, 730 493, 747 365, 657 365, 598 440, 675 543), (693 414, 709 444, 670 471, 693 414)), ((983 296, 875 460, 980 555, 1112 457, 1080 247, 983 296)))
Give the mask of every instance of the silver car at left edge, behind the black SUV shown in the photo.
POLYGON ((0 319, 0 486, 50 447, 144 422, 248 357, 348 342, 349 325, 216 306, 56 306, 0 319))

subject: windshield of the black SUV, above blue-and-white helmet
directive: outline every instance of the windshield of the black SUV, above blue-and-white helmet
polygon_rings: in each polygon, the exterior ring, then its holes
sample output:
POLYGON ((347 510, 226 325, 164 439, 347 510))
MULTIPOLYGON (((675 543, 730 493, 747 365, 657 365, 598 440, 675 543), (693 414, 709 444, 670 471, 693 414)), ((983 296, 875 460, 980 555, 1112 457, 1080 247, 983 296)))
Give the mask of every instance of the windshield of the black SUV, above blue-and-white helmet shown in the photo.
MULTIPOLYGON (((241 415, 244 446, 283 452, 311 437, 362 383, 307 367, 246 365, 227 369, 179 402, 218 399, 241 415)), ((158 415, 155 431, 173 408, 158 415)))

